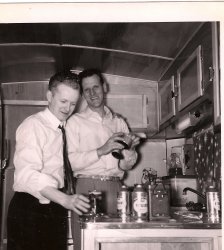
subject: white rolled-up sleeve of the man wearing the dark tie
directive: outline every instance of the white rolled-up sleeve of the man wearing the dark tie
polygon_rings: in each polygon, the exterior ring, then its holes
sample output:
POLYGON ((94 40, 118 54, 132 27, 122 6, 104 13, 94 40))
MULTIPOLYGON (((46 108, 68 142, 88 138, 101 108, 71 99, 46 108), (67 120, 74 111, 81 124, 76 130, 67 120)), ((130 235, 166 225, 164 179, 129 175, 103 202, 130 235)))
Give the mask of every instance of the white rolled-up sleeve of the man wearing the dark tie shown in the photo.
POLYGON ((49 200, 40 194, 46 186, 58 188, 59 182, 44 173, 43 148, 46 135, 33 121, 26 121, 16 132, 14 155, 14 190, 27 192, 38 198, 40 203, 49 200))

